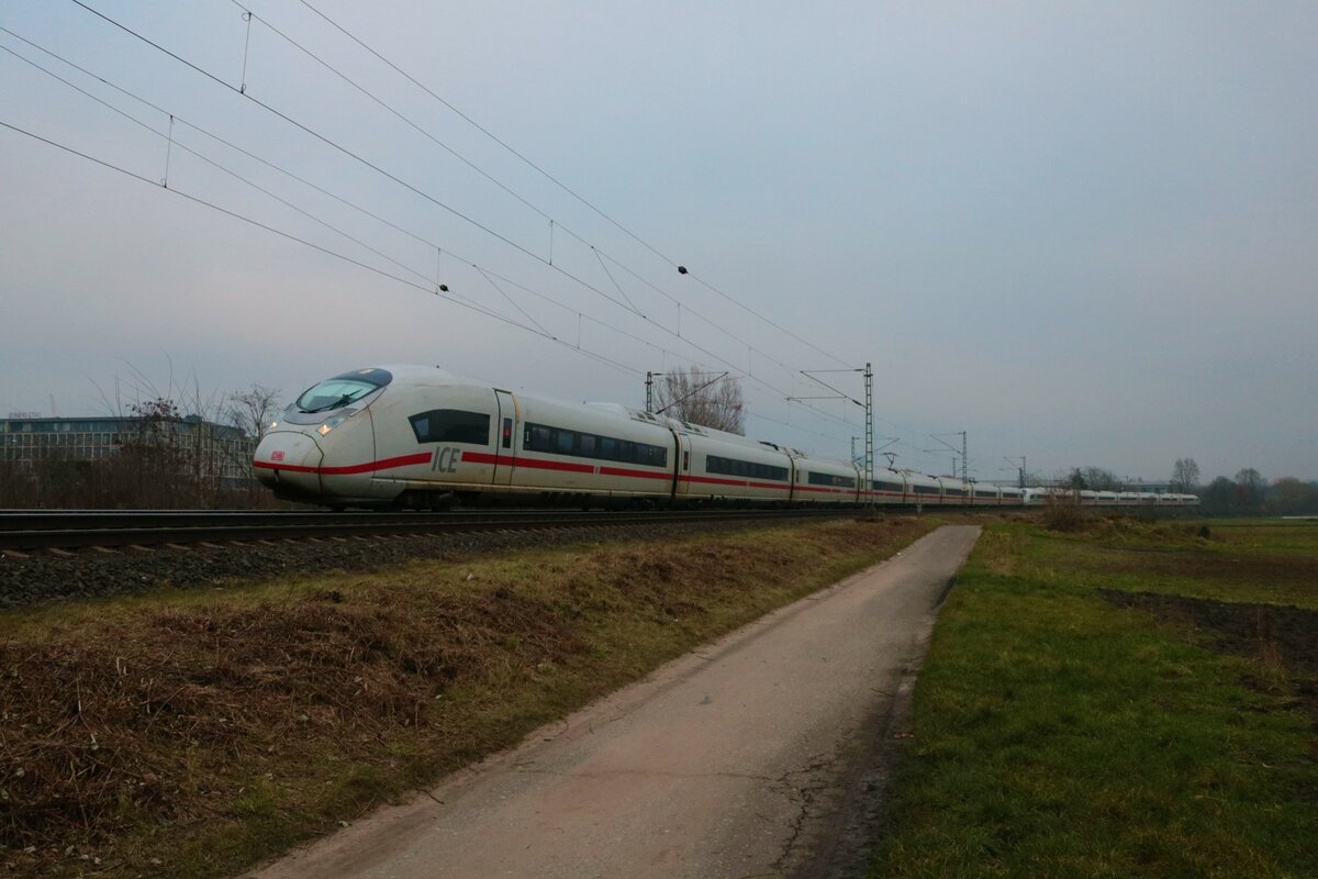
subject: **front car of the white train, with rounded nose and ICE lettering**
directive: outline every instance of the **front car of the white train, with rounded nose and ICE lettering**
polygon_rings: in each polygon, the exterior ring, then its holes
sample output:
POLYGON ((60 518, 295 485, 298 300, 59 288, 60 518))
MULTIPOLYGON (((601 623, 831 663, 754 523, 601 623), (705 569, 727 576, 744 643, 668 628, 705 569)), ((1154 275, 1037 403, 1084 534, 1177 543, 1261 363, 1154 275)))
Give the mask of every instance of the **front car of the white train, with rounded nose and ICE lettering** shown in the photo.
POLYGON ((308 389, 261 440, 253 467, 279 497, 337 507, 645 499, 671 497, 676 444, 654 415, 389 366, 308 389))

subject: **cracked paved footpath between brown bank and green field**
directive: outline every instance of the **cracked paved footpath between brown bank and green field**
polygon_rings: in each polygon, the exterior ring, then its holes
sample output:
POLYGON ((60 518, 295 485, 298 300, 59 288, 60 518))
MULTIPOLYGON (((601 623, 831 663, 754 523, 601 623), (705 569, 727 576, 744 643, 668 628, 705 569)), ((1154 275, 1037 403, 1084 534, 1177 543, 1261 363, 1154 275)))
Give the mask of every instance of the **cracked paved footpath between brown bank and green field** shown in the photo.
POLYGON ((847 837, 858 780, 875 778, 978 535, 940 528, 250 875, 837 875, 862 846, 847 837))

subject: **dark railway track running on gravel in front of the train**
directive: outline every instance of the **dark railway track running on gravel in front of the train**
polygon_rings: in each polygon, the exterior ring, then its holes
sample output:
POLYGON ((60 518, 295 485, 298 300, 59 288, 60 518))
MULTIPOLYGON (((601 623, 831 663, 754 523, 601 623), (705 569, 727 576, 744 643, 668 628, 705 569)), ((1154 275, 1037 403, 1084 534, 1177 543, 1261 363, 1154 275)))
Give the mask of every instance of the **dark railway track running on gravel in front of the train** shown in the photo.
POLYGON ((3 510, 0 551, 76 550, 307 538, 534 531, 700 522, 775 522, 855 515, 846 509, 482 513, 208 510, 3 510))

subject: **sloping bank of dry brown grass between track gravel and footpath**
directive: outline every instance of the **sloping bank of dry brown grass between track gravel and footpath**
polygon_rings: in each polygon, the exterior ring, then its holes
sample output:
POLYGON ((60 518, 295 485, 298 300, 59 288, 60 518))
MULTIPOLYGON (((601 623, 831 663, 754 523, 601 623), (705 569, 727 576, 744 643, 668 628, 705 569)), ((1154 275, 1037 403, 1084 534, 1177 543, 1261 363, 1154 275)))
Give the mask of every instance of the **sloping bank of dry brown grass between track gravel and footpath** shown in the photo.
POLYGON ((529 550, 5 613, 0 872, 231 874, 934 525, 529 550))

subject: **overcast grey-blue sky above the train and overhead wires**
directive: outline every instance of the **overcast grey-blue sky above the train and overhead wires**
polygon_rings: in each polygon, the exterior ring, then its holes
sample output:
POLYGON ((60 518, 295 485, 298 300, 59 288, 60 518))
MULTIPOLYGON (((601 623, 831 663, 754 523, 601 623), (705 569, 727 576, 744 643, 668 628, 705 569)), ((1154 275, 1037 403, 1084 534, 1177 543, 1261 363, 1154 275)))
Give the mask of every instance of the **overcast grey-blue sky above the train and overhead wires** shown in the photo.
POLYGON ((0 414, 381 362, 641 405, 700 364, 845 457, 858 407, 783 398, 870 361, 899 465, 967 430, 981 478, 1318 477, 1313 3, 84 3, 214 78, 0 7, 0 121, 149 181, 0 128, 0 414))

